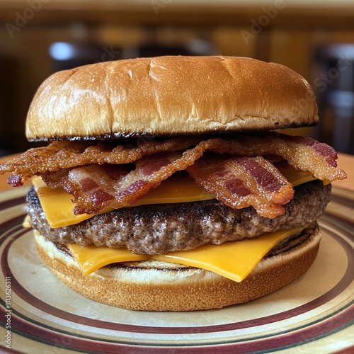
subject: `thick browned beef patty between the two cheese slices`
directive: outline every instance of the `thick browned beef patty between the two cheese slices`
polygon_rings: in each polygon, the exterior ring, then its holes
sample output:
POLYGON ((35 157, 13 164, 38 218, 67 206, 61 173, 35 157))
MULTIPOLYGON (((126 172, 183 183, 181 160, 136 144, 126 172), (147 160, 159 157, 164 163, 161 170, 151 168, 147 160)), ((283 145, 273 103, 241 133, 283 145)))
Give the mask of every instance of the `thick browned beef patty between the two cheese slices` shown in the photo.
POLYGON ((259 216, 253 207, 236 210, 218 200, 205 200, 125 207, 52 229, 35 189, 30 188, 27 212, 32 227, 54 242, 163 254, 307 226, 324 212, 330 198, 331 185, 312 181, 295 187, 295 197, 283 205, 285 214, 274 219, 259 216))

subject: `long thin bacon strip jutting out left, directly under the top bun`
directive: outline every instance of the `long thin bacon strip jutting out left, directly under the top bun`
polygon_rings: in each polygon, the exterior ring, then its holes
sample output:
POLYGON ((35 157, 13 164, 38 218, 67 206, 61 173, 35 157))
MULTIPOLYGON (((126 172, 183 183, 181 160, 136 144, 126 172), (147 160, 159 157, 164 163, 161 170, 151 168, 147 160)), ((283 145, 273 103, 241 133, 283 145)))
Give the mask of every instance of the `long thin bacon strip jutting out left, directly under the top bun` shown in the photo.
POLYGON ((176 137, 164 142, 142 140, 137 144, 113 145, 113 142, 52 142, 47 147, 29 149, 15 159, 0 164, 0 174, 11 172, 8 183, 13 187, 26 179, 59 169, 85 164, 128 164, 142 156, 158 152, 174 152, 198 144, 202 137, 176 137))

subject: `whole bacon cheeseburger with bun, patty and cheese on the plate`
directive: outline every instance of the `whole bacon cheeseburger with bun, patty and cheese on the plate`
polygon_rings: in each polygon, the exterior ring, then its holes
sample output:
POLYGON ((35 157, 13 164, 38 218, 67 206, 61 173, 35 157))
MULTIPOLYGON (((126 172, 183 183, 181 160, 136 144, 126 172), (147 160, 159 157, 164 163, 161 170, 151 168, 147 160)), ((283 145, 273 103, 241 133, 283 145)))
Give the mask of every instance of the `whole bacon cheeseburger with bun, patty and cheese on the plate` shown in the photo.
POLYGON ((190 311, 248 302, 312 265, 336 152, 284 128, 318 122, 307 81, 240 57, 118 60, 57 72, 0 167, 33 178, 42 261, 90 299, 190 311))

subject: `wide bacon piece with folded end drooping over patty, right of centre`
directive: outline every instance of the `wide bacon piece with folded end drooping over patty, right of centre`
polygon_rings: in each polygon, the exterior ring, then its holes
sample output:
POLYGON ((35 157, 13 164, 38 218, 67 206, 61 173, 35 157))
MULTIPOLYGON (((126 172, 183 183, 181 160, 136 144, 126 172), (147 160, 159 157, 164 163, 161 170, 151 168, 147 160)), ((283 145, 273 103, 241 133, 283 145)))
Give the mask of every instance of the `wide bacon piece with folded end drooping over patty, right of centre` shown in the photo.
POLYGON ((292 185, 261 156, 220 159, 205 153, 187 171, 225 205, 235 209, 253 206, 263 217, 284 214, 281 204, 294 196, 292 185))

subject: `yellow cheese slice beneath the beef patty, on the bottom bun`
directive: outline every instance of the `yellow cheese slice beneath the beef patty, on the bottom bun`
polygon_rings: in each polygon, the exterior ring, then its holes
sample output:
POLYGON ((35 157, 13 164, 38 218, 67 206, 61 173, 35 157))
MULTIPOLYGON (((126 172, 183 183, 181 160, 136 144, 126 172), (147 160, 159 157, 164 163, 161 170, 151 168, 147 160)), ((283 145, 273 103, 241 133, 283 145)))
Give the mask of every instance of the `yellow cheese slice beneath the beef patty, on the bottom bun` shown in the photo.
POLYGON ((139 256, 127 249, 110 249, 106 246, 81 247, 77 244, 67 246, 85 275, 110 263, 154 259, 210 270, 235 282, 241 282, 273 246, 303 229, 272 232, 256 239, 227 242, 219 246, 205 245, 193 251, 176 251, 156 256, 139 256))

